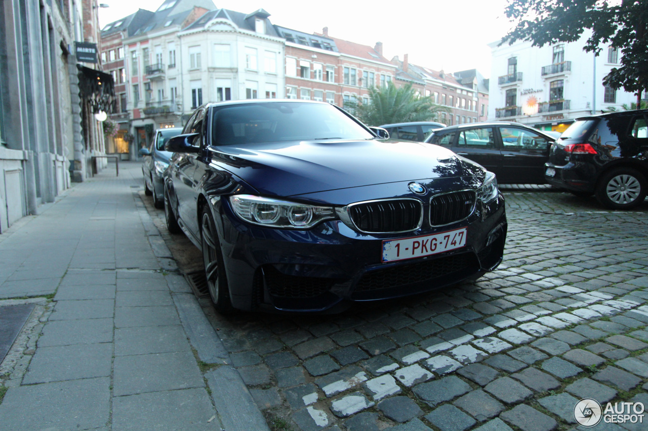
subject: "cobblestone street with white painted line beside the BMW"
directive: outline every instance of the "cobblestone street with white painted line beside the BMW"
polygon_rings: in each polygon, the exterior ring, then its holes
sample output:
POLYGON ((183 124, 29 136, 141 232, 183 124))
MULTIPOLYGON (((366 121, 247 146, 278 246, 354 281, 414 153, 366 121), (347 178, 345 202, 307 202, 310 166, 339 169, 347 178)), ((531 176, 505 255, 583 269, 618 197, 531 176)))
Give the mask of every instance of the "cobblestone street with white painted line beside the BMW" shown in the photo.
POLYGON ((648 405, 648 203, 504 194, 504 261, 477 282, 340 315, 226 317, 201 300, 271 429, 567 430, 585 397, 648 405))

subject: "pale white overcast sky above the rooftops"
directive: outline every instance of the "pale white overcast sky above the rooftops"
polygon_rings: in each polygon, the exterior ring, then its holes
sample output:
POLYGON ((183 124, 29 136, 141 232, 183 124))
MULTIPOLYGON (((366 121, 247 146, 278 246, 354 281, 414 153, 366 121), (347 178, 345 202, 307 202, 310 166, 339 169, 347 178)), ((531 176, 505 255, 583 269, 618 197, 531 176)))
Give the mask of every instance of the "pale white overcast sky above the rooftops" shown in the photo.
MULTIPOLYGON (((137 12, 155 11, 163 0, 100 0, 109 5, 99 9, 101 27, 137 12)), ((491 75, 491 49, 487 43, 504 36, 512 27, 504 15, 506 0, 415 0, 398 2, 353 0, 214 0, 218 8, 249 14, 263 8, 270 21, 281 27, 306 33, 321 33, 373 47, 380 41, 383 55, 403 59, 435 71, 458 72, 477 69, 491 75), (315 5, 317 4, 317 5, 315 5)))

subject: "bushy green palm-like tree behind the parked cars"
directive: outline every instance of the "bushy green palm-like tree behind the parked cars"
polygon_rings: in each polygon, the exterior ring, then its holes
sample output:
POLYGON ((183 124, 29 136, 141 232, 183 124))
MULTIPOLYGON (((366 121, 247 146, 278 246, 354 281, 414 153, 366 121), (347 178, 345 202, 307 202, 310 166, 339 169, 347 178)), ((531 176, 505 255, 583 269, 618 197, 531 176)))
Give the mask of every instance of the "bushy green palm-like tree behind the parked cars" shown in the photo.
POLYGON ((416 94, 411 84, 396 87, 389 82, 386 87, 370 87, 368 104, 345 104, 360 121, 370 126, 408 121, 434 121, 439 113, 448 112, 437 105, 430 96, 416 94))

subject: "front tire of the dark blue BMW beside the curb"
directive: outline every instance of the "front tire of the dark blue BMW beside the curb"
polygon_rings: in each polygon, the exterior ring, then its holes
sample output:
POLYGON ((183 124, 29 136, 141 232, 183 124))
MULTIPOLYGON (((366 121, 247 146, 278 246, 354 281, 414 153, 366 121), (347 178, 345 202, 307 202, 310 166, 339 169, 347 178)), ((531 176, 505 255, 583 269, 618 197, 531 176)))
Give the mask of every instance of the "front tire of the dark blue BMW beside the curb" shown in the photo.
POLYGON ((202 211, 200 227, 200 243, 202 245, 203 267, 209 288, 209 296, 214 303, 214 309, 219 313, 228 314, 233 311, 229 299, 229 287, 223 265, 223 255, 220 251, 218 232, 209 207, 205 205, 202 211))

